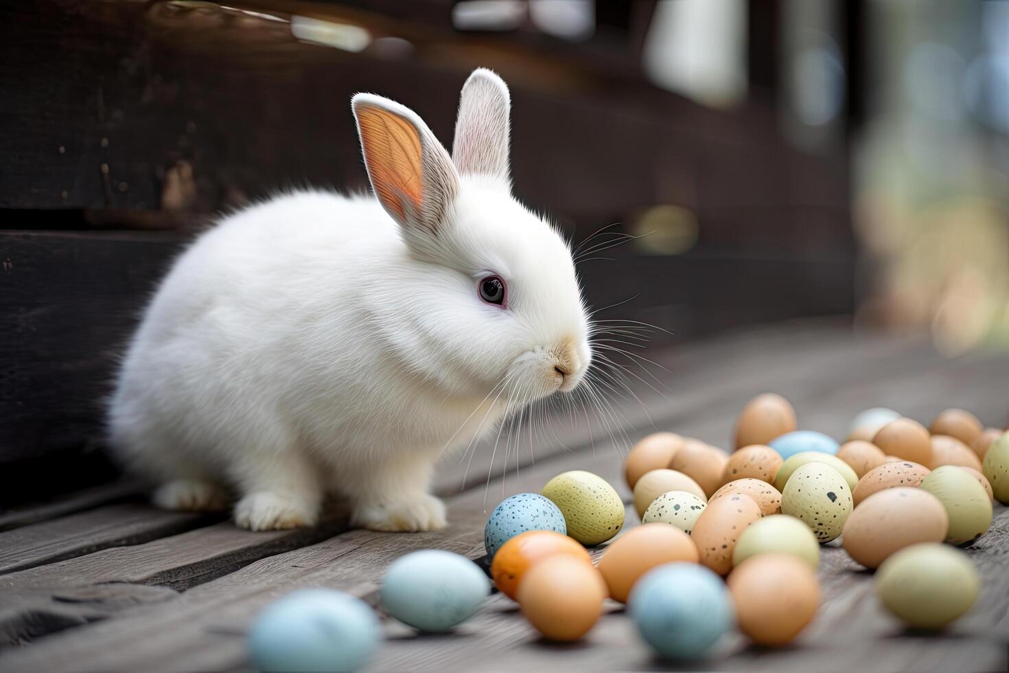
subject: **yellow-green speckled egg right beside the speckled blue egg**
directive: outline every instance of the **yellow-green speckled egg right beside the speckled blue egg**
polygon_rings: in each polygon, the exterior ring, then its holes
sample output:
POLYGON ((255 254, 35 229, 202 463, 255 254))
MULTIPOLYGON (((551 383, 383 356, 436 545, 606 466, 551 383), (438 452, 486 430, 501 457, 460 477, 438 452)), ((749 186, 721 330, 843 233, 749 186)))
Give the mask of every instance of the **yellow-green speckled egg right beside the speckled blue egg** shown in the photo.
POLYGON ((564 515, 568 535, 583 545, 598 545, 620 533, 624 501, 605 479, 572 470, 547 482, 540 494, 564 515))

